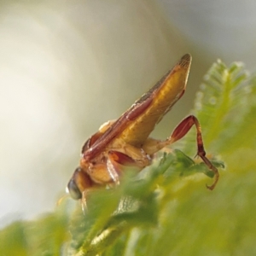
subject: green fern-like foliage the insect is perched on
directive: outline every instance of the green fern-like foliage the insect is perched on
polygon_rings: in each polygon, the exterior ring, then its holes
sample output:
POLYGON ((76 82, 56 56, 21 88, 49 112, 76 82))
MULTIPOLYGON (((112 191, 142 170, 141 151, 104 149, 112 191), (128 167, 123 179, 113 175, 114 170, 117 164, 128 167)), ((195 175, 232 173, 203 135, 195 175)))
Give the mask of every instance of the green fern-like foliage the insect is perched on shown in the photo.
POLYGON ((196 153, 191 131, 183 151, 160 154, 137 176, 127 172, 115 189, 91 192, 84 212, 66 199, 36 221, 10 224, 0 232, 0 255, 256 254, 256 77, 241 63, 218 61, 193 114, 220 171, 216 189, 205 186, 212 172, 187 156, 196 153))

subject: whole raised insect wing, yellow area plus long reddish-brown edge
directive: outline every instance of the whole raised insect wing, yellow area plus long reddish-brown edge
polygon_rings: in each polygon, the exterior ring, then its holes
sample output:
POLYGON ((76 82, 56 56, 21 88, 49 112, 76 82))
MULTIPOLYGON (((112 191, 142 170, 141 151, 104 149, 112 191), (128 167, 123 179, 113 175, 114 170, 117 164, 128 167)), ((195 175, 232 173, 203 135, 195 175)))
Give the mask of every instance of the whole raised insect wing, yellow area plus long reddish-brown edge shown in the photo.
POLYGON ((90 148, 83 152, 84 159, 90 160, 96 154, 100 154, 116 138, 141 147, 154 130, 154 125, 159 123, 173 104, 183 96, 191 60, 191 55, 183 55, 171 71, 166 73, 157 84, 110 125, 90 148))

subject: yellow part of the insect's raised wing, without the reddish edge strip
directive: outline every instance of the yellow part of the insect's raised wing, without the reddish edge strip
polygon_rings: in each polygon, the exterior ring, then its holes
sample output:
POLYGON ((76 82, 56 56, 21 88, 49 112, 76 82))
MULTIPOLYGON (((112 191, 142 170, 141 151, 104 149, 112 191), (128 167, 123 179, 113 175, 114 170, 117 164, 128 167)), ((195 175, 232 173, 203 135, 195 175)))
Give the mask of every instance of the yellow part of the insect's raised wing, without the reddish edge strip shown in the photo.
POLYGON ((175 102, 183 96, 191 61, 191 55, 183 55, 171 71, 166 73, 153 88, 135 102, 135 104, 140 104, 148 98, 152 99, 148 108, 130 122, 124 131, 119 133, 119 138, 123 139, 125 143, 137 147, 140 147, 145 142, 149 134, 154 130, 154 125, 159 123, 175 102))

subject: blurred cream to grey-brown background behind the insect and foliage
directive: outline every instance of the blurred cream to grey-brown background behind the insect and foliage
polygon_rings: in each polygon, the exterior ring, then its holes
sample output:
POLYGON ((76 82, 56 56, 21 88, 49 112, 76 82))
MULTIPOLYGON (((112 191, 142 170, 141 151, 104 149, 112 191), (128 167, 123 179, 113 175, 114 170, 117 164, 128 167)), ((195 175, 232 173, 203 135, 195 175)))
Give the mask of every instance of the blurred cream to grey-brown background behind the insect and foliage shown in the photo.
POLYGON ((155 137, 193 107, 213 61, 254 71, 255 1, 1 1, 0 227, 52 211, 84 141, 185 53, 188 89, 155 137))

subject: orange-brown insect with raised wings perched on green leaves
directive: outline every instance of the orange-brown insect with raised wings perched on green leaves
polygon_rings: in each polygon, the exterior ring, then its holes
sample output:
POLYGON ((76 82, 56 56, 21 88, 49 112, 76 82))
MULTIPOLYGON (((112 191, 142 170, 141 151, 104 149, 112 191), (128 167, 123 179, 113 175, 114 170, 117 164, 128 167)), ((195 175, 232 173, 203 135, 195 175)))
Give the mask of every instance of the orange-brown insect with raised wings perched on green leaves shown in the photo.
POLYGON ((141 171, 152 162, 154 154, 181 139, 195 125, 197 155, 214 173, 218 183, 218 170, 207 159, 204 150, 201 126, 195 116, 189 115, 177 125, 165 141, 148 137, 154 126, 171 110, 186 89, 191 64, 191 55, 186 54, 148 92, 138 99, 119 119, 103 124, 82 148, 80 166, 73 173, 67 189, 73 199, 84 199, 89 189, 101 185, 119 184, 125 166, 141 171))

